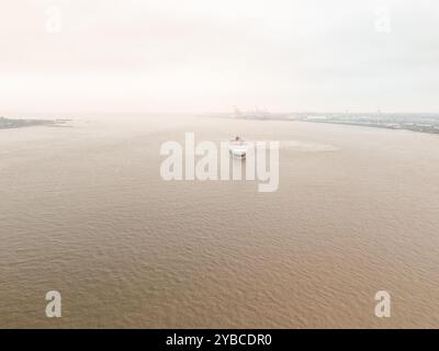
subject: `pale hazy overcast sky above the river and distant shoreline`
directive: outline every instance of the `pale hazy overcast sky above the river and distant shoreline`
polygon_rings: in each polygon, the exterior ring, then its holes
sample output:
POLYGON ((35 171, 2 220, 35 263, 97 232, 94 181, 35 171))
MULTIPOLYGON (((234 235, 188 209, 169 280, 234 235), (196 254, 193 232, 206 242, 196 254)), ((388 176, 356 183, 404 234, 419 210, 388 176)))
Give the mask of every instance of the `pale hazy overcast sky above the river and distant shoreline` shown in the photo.
POLYGON ((439 111, 437 0, 1 0, 0 29, 0 115, 439 111))

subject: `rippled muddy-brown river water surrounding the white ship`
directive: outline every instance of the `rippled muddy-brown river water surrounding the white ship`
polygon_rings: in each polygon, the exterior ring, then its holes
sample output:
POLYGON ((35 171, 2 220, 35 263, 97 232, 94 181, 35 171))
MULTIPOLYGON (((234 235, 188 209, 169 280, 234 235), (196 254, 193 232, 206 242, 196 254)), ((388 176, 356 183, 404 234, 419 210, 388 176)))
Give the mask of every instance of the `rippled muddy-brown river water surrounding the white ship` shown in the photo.
POLYGON ((439 137, 299 122, 0 131, 0 327, 439 327, 439 137), (161 180, 161 143, 281 140, 280 184, 161 180), (63 317, 45 317, 45 294, 63 317), (374 294, 392 317, 374 316, 374 294))

